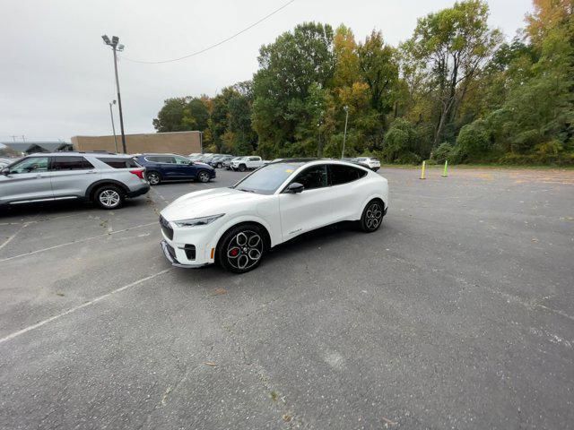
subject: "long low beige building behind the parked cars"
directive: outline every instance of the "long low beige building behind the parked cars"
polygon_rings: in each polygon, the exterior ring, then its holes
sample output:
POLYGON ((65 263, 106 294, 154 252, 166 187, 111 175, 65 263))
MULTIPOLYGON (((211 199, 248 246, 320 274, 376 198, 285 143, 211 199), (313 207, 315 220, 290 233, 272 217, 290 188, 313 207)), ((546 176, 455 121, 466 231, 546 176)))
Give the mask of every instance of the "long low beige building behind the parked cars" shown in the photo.
MULTIPOLYGON (((188 155, 202 151, 201 132, 126 134, 128 154, 170 152, 188 155)), ((108 150, 116 152, 114 136, 74 136, 74 150, 108 150)), ((122 150, 122 136, 117 135, 117 152, 122 150)))

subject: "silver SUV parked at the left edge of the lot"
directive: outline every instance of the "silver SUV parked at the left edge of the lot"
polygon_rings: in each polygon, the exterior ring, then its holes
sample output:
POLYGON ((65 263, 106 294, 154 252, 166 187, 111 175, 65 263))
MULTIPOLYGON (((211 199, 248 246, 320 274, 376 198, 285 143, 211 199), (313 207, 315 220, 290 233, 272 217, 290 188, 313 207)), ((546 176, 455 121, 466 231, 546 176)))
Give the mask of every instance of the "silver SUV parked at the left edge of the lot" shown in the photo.
POLYGON ((145 168, 108 152, 32 154, 0 170, 0 206, 84 200, 117 209, 149 190, 145 168))

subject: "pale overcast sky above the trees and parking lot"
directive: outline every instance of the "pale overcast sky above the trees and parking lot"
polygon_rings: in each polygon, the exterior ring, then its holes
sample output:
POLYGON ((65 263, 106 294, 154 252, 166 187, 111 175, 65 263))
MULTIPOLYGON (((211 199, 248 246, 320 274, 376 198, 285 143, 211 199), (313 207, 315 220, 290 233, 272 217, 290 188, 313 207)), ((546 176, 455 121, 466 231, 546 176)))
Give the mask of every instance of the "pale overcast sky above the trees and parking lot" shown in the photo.
MULTIPOLYGON (((248 27, 287 0, 0 0, 0 141, 110 134, 116 98, 112 54, 102 34, 117 35, 125 56, 184 56, 248 27)), ((251 78, 262 44, 306 21, 344 22, 357 39, 372 29, 396 45, 416 19, 450 0, 296 0, 236 39, 186 60, 135 64, 120 60, 126 133, 153 132, 164 99, 202 93, 251 78)), ((491 26, 512 37, 531 0, 490 0, 491 26)), ((115 112, 117 114, 117 112, 115 112)), ((117 116, 116 116, 117 119, 117 116)))

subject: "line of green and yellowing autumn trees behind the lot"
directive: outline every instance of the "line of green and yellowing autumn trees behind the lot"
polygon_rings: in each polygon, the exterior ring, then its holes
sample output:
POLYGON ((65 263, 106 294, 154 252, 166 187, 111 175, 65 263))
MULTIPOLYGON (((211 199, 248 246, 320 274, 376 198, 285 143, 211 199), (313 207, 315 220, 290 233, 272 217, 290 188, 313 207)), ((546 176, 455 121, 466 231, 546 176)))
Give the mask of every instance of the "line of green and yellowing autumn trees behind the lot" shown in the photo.
POLYGON ((410 39, 357 41, 306 22, 259 50, 248 82, 167 99, 158 132, 265 158, 375 155, 386 162, 574 164, 574 2, 534 0, 506 41, 482 0, 420 18, 410 39))

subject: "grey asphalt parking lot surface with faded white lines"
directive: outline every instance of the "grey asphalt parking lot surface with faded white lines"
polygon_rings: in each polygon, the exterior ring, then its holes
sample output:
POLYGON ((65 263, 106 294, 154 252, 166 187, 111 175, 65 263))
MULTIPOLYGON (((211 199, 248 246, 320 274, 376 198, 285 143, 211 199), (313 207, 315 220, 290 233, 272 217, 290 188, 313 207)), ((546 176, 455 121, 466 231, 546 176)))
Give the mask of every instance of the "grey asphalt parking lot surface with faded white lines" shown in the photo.
POLYGON ((383 227, 171 268, 161 208, 0 217, 0 428, 571 428, 574 171, 383 168, 383 227))

